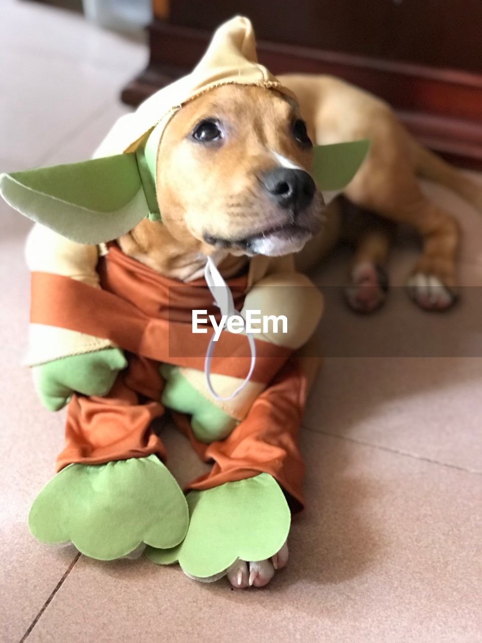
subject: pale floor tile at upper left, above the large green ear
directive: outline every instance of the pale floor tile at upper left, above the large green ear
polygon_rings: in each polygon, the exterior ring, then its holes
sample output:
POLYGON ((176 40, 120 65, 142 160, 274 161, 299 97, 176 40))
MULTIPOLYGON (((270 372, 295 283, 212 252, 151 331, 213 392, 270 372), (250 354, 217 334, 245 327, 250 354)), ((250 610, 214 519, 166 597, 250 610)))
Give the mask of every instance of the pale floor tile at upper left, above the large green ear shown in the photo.
POLYGON ((0 140, 20 167, 40 165, 103 110, 116 104, 128 76, 60 58, 1 48, 0 140))

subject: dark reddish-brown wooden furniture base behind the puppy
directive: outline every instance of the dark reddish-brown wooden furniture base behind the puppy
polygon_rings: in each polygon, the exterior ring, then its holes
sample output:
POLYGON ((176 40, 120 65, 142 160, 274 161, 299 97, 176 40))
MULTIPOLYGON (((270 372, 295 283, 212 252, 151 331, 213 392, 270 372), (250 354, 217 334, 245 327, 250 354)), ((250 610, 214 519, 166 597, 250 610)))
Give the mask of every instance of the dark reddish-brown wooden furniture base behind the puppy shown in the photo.
MULTIPOLYGON (((148 67, 121 96, 129 105, 188 73, 211 33, 155 21, 149 36, 148 67)), ((258 41, 258 57, 275 74, 331 74, 367 89, 393 105, 427 147, 456 165, 482 170, 482 74, 265 41, 258 41)))

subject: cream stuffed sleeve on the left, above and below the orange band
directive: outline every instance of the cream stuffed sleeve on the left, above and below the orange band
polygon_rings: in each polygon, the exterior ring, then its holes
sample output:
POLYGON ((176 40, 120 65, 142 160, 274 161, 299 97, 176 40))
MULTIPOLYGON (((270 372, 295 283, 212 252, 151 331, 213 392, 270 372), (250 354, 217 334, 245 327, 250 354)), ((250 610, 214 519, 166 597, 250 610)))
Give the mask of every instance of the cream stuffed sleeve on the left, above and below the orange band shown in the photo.
MULTIPOLYGON (((94 288, 100 288, 96 271, 97 246, 78 244, 65 239, 40 224, 33 226, 26 243, 26 261, 32 273, 67 276, 94 288)), ((32 280, 31 298, 41 298, 32 280)), ((46 302, 46 305, 55 302, 46 302)), ((30 323, 28 352, 24 363, 37 366, 53 359, 113 347, 109 340, 82 332, 30 323)))

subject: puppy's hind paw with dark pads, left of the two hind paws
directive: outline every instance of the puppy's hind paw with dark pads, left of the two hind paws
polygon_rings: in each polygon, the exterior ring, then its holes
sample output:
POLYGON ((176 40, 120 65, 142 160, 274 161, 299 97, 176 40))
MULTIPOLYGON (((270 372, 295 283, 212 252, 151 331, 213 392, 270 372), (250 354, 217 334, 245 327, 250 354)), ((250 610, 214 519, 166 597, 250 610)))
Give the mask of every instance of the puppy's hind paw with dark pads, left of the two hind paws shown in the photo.
POLYGON ((350 285, 344 290, 346 303, 352 311, 368 314, 377 311, 386 300, 388 276, 384 269, 372 262, 353 267, 350 285))

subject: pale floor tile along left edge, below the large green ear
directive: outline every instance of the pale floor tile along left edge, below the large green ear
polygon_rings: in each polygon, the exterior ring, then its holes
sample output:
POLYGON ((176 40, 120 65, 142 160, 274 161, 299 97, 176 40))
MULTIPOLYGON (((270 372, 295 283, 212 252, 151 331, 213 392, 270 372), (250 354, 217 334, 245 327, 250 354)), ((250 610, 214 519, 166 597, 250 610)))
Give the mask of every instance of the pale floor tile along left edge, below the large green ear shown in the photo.
POLYGON ((22 637, 47 601, 75 552, 31 538, 31 501, 54 473, 62 445, 62 414, 35 399, 30 373, 21 367, 28 325, 28 272, 23 246, 29 222, 0 203, 2 275, 0 349, 0 641, 22 637))

